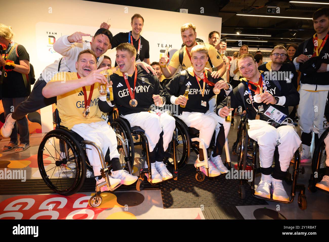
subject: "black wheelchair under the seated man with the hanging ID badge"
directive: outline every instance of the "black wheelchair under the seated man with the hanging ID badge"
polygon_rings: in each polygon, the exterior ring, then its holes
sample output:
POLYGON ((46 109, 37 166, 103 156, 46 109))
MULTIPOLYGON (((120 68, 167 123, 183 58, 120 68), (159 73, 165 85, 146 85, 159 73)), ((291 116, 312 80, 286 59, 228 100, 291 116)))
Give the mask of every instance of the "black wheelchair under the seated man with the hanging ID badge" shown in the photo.
MULTIPOLYGON (((256 172, 257 172, 257 153, 259 152, 258 144, 255 140, 251 139, 248 136, 248 118, 246 115, 241 116, 241 120, 239 122, 238 126, 238 137, 236 141, 236 147, 232 147, 233 153, 238 154, 238 164, 237 164, 237 170, 239 171, 246 171, 246 170, 252 170, 252 181, 251 181, 251 193, 252 196, 255 198, 267 200, 267 201, 273 201, 273 202, 282 202, 282 203, 291 203, 294 199, 294 196, 296 195, 296 191, 299 190, 298 194, 298 206, 300 209, 304 210, 307 207, 307 201, 305 196, 305 186, 303 184, 297 184, 297 178, 298 174, 305 173, 304 167, 300 168, 300 150, 299 148, 294 153, 294 156, 292 158, 293 161, 293 172, 292 174, 289 173, 289 168, 287 170, 287 175, 285 178, 285 181, 288 185, 291 185, 291 198, 289 201, 277 201, 273 199, 267 199, 263 197, 259 197, 255 195, 255 178, 256 178, 256 172), (236 150, 238 148, 238 150, 236 150), (237 151, 237 152, 236 152, 237 151)), ((274 151, 274 159, 278 161, 278 147, 276 146, 274 151)), ((244 183, 246 182, 246 179, 243 179, 240 177, 240 185, 239 185, 239 197, 241 199, 245 198, 245 187, 244 183)))

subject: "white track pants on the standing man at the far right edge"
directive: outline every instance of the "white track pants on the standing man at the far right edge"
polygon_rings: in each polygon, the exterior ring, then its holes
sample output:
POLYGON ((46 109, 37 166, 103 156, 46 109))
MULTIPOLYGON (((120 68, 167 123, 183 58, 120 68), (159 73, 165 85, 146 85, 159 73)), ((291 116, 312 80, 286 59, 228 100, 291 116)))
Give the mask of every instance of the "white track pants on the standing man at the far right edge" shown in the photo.
POLYGON ((300 130, 304 133, 310 133, 313 130, 320 136, 327 128, 324 108, 328 91, 309 92, 300 89, 299 96, 297 115, 300 130))

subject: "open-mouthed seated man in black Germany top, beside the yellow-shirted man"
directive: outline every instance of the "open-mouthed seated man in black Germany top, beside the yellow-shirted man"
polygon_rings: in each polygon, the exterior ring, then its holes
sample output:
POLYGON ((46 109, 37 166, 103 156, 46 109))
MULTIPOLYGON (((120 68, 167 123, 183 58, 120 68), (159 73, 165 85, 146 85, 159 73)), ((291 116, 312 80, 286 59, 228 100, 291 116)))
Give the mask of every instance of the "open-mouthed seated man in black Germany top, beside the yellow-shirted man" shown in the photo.
MULTIPOLYGON (((172 174, 163 163, 164 151, 172 140, 175 119, 162 113, 158 116, 151 112, 152 107, 162 107, 163 88, 158 78, 135 65, 136 49, 129 43, 116 47, 116 63, 119 69, 110 76, 113 81, 114 102, 119 115, 128 120, 130 126, 139 126, 145 131, 149 143, 152 182, 158 183, 172 178, 172 174)), ((104 108, 111 103, 99 102, 104 108)), ((145 162, 147 168, 147 162, 145 162)), ((148 175, 146 175, 148 176, 148 175)))

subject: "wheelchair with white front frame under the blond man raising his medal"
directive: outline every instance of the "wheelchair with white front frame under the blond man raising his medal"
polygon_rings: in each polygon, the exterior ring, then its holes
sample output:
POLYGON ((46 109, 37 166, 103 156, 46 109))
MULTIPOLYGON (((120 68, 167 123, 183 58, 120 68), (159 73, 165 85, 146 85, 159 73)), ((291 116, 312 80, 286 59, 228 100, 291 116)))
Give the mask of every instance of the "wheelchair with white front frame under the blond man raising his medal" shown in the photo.
MULTIPOLYGON (((200 131, 196 128, 188 127, 184 121, 179 119, 177 116, 174 116, 176 120, 176 129, 174 132, 174 140, 175 146, 177 148, 177 155, 178 155, 178 166, 184 167, 190 158, 190 151, 194 151, 197 155, 199 154, 199 147, 205 147, 204 142, 202 139, 199 138, 200 131)), ((171 143, 169 144, 169 148, 171 147, 171 143)), ((230 169, 231 168, 231 159, 230 159, 230 152, 228 146, 228 140, 225 140, 225 151, 226 151, 226 159, 225 159, 225 166, 230 169)), ((168 148, 168 149, 169 149, 168 148)), ((209 177, 209 165, 208 165, 208 151, 214 150, 215 148, 215 132, 213 134, 213 138, 211 140, 210 146, 208 149, 203 148, 204 152, 204 162, 200 162, 197 164, 195 179, 197 181, 203 181, 206 178, 206 175, 200 171, 199 167, 205 166, 207 175, 209 177)), ((167 161, 167 164, 170 166, 171 163, 167 161)), ((210 177, 214 178, 214 177, 210 177)))

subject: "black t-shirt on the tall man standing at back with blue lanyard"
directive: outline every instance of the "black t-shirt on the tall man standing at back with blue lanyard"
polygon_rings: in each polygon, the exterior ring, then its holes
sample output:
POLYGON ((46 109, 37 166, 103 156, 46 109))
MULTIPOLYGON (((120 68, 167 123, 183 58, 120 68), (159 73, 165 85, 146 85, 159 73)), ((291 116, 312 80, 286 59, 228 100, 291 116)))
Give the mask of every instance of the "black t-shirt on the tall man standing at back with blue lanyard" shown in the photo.
MULTIPOLYGON (((118 33, 113 36, 111 45, 112 49, 118 46, 119 44, 122 43, 127 43, 129 39, 129 32, 128 33, 118 33)), ((133 45, 138 52, 138 43, 139 39, 135 40, 133 37, 133 45)), ((136 61, 139 59, 140 61, 143 61, 144 59, 149 59, 150 58, 150 44, 148 43, 147 40, 145 40, 142 36, 140 36, 140 50, 139 50, 139 55, 136 55, 136 61)), ((115 62, 115 67, 117 66, 115 62)))

